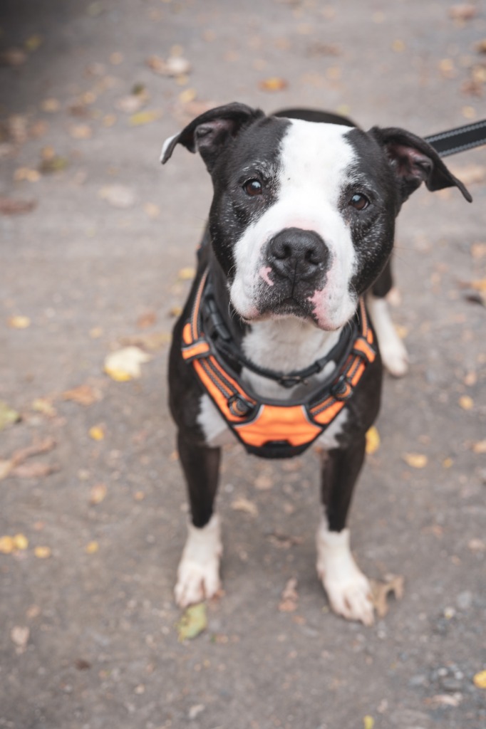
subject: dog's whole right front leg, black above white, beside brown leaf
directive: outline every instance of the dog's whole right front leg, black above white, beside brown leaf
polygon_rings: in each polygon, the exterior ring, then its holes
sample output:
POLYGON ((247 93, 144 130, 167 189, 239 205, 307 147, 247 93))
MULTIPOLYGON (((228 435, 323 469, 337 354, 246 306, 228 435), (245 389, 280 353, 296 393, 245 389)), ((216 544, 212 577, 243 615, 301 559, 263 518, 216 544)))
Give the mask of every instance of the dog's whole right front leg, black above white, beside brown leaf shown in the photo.
POLYGON ((365 455, 365 437, 350 448, 324 453, 322 473, 323 518, 317 530, 317 574, 334 612, 348 620, 372 625, 371 589, 351 553, 346 528, 352 490, 365 455))

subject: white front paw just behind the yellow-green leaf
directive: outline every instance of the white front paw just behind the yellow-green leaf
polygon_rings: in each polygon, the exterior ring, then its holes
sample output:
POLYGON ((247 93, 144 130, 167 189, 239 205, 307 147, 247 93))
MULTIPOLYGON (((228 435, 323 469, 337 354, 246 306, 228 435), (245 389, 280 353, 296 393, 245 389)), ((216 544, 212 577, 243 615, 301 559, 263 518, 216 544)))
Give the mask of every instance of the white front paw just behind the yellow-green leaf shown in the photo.
POLYGON ((188 539, 177 570, 174 595, 180 607, 209 599, 220 589, 223 553, 220 521, 216 514, 202 529, 188 525, 188 539))

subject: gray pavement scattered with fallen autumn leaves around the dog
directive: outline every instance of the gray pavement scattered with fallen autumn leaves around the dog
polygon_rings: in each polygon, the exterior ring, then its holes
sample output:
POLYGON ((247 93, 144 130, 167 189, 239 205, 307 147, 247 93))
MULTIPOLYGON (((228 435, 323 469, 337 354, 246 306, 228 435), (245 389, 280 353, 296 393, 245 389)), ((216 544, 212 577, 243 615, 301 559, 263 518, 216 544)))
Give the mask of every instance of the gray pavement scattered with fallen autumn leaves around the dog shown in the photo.
POLYGON ((420 190, 398 225, 411 370, 386 378, 351 529, 364 572, 403 575, 403 599, 372 628, 331 614, 315 453, 232 448, 225 593, 188 642, 166 354, 211 190, 184 149, 158 164, 166 136, 234 100, 423 135, 482 118, 484 4, 4 0, 0 15, 0 400, 21 416, 0 431, 0 728, 485 729, 486 149, 450 158, 473 205, 420 190), (163 75, 171 57, 188 73, 163 75), (140 336, 153 359, 113 381, 105 357, 140 336), (65 395, 80 386, 90 404, 65 395))

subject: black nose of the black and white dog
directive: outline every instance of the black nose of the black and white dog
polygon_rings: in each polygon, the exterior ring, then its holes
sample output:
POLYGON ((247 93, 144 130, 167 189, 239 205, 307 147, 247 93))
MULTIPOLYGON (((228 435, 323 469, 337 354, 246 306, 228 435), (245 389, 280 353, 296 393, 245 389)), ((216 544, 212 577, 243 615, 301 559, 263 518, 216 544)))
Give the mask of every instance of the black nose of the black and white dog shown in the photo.
POLYGON ((329 249, 314 230, 292 227, 271 238, 268 257, 278 276, 310 281, 328 269, 329 249))

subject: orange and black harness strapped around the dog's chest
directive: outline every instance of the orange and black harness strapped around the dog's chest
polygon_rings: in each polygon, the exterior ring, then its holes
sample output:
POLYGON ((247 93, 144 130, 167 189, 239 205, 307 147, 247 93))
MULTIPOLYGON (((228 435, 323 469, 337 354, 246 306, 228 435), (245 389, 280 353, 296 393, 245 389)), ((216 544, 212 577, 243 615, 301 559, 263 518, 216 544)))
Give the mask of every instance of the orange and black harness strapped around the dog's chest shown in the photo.
POLYGON ((192 363, 204 390, 248 452, 266 458, 302 453, 338 416, 366 365, 376 356, 363 300, 356 315, 356 333, 331 378, 298 402, 262 399, 242 383, 201 329, 207 274, 201 279, 190 320, 182 330, 183 358, 192 363))

